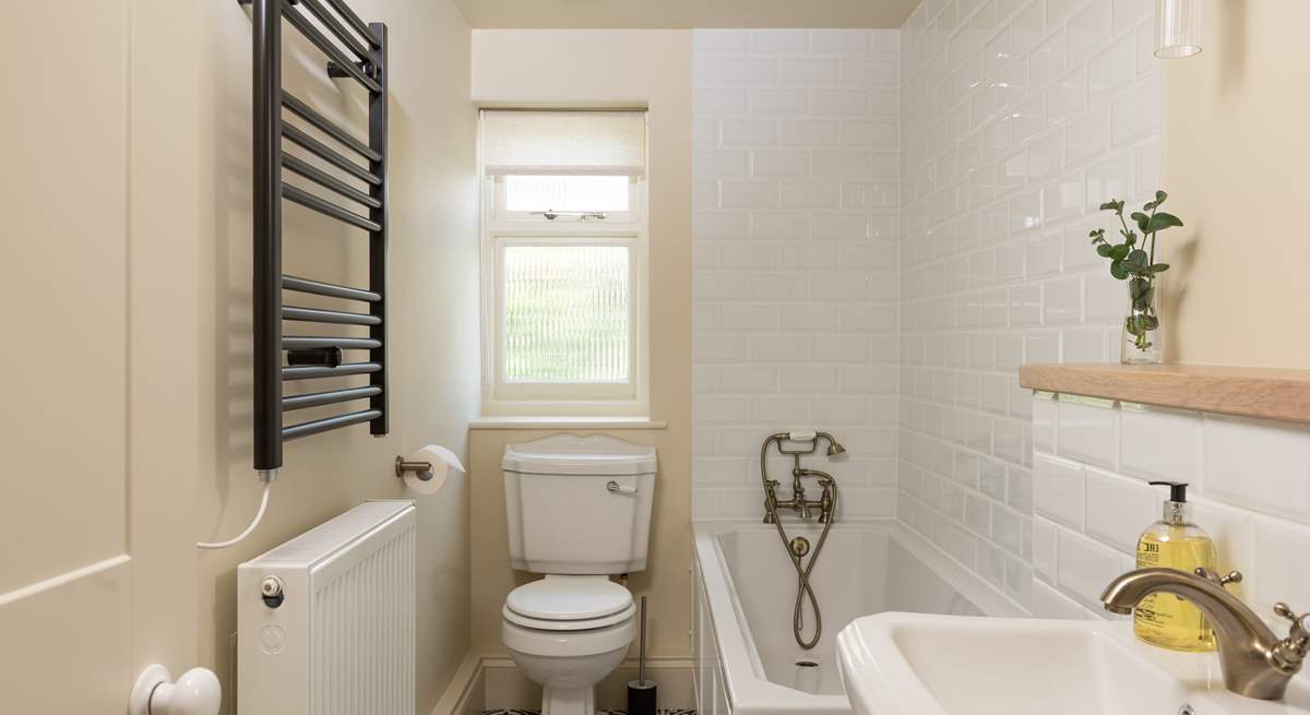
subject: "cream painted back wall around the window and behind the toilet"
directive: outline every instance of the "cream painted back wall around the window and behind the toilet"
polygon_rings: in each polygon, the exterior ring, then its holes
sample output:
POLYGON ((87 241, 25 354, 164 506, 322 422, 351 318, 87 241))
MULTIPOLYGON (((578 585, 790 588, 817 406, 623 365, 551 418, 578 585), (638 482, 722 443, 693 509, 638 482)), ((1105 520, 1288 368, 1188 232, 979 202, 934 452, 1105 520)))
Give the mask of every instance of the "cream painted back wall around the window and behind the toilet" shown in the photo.
MULTIPOLYGON (((483 106, 647 106, 650 131, 651 418, 664 430, 612 431, 659 452, 648 568, 650 650, 690 655, 692 34, 683 30, 476 30, 473 100, 483 106)), ((473 647, 500 653, 500 606, 536 578, 510 568, 500 454, 558 430, 473 430, 473 647)), ((578 515, 579 519, 586 515, 578 515)))

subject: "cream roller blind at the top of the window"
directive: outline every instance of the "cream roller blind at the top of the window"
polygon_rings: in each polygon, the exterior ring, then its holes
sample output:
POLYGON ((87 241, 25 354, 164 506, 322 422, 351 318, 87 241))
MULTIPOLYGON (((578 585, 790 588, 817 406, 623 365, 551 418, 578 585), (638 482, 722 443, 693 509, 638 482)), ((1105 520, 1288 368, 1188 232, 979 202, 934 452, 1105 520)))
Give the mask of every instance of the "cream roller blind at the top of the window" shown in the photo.
POLYGON ((646 172, 645 111, 482 111, 487 175, 646 172))

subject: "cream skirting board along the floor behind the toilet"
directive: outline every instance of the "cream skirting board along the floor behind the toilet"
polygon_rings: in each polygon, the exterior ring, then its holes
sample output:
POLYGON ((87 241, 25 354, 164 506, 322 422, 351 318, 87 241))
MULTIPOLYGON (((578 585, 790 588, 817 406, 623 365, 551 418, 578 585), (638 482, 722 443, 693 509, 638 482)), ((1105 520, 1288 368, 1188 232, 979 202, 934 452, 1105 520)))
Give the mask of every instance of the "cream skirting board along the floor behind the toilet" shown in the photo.
MULTIPOLYGON (((646 661, 646 674, 659 684, 662 708, 696 707, 692 659, 662 657, 646 661)), ((637 660, 625 660, 596 686, 596 706, 627 706, 627 681, 637 680, 637 660)), ((431 715, 481 715, 483 710, 541 706, 541 686, 532 682, 503 653, 469 652, 436 702, 431 715)))

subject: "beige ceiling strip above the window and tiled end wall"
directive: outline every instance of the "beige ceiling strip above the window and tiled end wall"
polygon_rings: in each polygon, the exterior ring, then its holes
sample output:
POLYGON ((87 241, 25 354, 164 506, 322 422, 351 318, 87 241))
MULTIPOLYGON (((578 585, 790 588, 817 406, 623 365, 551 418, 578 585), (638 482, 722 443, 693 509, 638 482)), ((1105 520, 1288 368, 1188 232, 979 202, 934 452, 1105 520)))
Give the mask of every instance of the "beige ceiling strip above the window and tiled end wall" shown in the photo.
POLYGON ((920 0, 455 0, 473 28, 900 28, 920 0))

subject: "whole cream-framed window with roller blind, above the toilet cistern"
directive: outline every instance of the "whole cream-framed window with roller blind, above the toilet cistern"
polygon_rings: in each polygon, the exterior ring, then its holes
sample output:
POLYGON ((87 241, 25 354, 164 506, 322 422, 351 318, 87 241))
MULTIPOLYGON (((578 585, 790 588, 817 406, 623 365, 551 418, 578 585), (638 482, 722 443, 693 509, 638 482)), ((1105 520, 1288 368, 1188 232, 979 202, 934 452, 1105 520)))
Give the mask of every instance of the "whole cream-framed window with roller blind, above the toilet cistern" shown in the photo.
POLYGON ((483 412, 647 411, 646 115, 482 113, 483 412))

